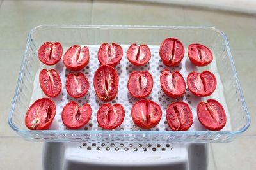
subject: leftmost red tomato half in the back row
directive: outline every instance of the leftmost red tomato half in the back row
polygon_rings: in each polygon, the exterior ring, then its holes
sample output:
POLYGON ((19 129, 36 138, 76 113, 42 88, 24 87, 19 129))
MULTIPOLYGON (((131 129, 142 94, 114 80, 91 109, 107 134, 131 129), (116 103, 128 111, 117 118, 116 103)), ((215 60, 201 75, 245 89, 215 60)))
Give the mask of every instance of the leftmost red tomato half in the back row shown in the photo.
POLYGON ((46 65, 54 65, 60 61, 62 56, 62 46, 60 43, 46 42, 38 50, 39 60, 46 65))

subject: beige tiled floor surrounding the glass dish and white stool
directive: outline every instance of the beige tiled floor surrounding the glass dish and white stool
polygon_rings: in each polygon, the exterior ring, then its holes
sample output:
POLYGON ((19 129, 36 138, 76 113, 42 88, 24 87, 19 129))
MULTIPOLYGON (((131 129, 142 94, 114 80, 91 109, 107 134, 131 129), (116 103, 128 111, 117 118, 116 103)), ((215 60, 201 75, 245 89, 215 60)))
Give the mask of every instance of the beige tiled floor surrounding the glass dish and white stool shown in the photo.
POLYGON ((255 16, 124 1, 0 2, 3 2, 0 3, 0 169, 42 168, 42 143, 18 138, 7 124, 27 34, 41 24, 200 25, 224 31, 230 42, 252 124, 242 137, 232 143, 211 144, 209 169, 255 169, 255 16))

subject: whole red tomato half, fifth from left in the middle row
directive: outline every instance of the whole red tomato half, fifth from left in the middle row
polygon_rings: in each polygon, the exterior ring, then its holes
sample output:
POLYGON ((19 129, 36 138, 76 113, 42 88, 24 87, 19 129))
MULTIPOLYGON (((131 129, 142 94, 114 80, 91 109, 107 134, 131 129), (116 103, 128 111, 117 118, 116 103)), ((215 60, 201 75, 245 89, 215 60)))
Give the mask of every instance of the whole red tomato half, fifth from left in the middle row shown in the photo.
POLYGON ((160 83, 163 92, 169 97, 179 97, 185 93, 186 83, 179 71, 172 73, 168 69, 164 69, 160 76, 160 83))

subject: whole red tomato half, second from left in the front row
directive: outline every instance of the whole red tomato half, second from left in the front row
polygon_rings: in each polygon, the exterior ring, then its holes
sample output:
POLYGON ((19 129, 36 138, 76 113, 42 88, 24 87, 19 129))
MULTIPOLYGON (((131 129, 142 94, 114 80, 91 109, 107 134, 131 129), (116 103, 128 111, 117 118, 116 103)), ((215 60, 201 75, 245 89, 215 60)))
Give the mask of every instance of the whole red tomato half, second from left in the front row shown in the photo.
POLYGON ((63 108, 61 119, 69 129, 79 129, 89 122, 91 115, 90 104, 84 103, 83 106, 79 106, 76 102, 70 101, 63 108))

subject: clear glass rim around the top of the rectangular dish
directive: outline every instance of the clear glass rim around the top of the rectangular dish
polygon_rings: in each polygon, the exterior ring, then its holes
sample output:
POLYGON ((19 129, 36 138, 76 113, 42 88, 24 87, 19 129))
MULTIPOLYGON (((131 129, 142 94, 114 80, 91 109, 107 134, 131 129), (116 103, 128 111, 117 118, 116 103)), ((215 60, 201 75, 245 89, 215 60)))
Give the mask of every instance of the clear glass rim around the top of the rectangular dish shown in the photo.
MULTIPOLYGON (((221 134, 221 135, 230 135, 230 136, 237 136, 238 134, 243 133, 244 131, 246 131, 246 129, 248 129, 248 127, 250 126, 250 116, 248 113, 248 109, 246 107, 246 103, 244 101, 244 96, 243 96, 243 92, 241 90, 241 86, 239 83, 239 80, 237 78, 237 73, 236 73, 236 68, 234 65, 234 60, 232 59, 232 55, 230 52, 230 47, 228 45, 228 40, 227 40, 227 36, 225 35, 225 33, 223 31, 221 31, 220 29, 217 29, 216 27, 194 27, 194 26, 144 26, 144 25, 38 25, 36 27, 34 27, 33 29, 31 29, 31 31, 28 34, 28 38, 26 41, 26 47, 23 53, 23 59, 22 59, 22 64, 20 67, 20 73, 19 73, 19 78, 17 81, 17 86, 15 89, 15 94, 13 96, 13 101, 12 101, 12 106, 10 108, 10 113, 8 115, 8 124, 10 125, 10 127, 12 127, 12 129, 14 131, 16 131, 17 133, 20 134, 54 134, 54 135, 58 135, 58 134, 85 134, 85 135, 95 135, 95 134, 118 134, 118 135, 136 135, 136 134, 143 134, 143 135, 173 135, 173 136, 177 136, 177 135, 216 135, 216 134, 221 134), (26 53, 28 52, 28 48, 29 48, 29 41, 31 39, 31 36, 34 34, 34 32, 38 29, 86 29, 86 28, 90 28, 90 29, 184 29, 184 30, 191 30, 191 29, 199 29, 199 30, 212 30, 212 31, 216 31, 218 32, 222 38, 225 41, 225 47, 227 48, 227 53, 228 53, 228 58, 230 60, 230 65, 232 67, 232 71, 234 73, 234 77, 236 79, 236 86, 237 86, 237 90, 239 92, 239 96, 241 99, 241 103, 243 106, 243 111, 244 111, 244 115, 246 116, 246 124, 244 125, 243 128, 237 130, 237 131, 108 131, 108 130, 90 130, 90 131, 82 131, 82 130, 36 130, 36 131, 31 131, 31 130, 24 130, 24 129, 19 129, 18 127, 16 127, 13 122, 12 122, 12 115, 13 115, 13 110, 15 108, 15 104, 17 101, 17 97, 19 94, 19 90, 20 90, 20 85, 21 85, 21 78, 22 78, 22 73, 23 73, 23 69, 24 66, 26 64, 26 53)), ((50 139, 51 141, 51 139, 50 139)), ((65 140, 63 140, 65 141, 65 140)), ((68 140, 67 140, 68 141, 68 140)), ((218 141, 218 140, 217 140, 218 141)))

